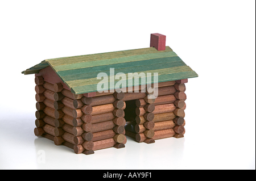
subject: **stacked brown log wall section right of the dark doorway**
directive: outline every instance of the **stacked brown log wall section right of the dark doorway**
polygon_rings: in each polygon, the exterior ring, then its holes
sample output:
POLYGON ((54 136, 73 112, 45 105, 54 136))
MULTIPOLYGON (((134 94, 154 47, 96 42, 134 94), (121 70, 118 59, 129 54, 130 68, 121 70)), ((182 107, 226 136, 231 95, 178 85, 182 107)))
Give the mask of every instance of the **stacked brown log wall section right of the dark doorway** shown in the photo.
POLYGON ((185 133, 186 80, 159 83, 158 97, 151 102, 147 97, 136 100, 136 123, 127 124, 127 136, 137 142, 151 143, 168 137, 183 137, 185 133), (151 103, 151 104, 150 104, 151 103), (152 133, 148 137, 147 133, 152 133), (146 134, 145 134, 146 133, 146 134))

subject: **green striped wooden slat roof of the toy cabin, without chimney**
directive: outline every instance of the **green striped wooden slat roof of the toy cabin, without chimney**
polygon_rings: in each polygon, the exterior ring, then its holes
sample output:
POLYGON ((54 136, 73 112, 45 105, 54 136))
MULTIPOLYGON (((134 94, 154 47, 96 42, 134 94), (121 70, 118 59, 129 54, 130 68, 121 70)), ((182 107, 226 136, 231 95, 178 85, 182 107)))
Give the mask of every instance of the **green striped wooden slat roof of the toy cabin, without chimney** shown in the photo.
MULTIPOLYGON (((158 82, 198 77, 170 47, 158 51, 154 47, 123 50, 118 52, 88 54, 83 56, 53 58, 42 61, 23 74, 39 73, 51 66, 65 84, 75 94, 97 91, 98 73, 110 74, 110 68, 116 73, 158 73, 158 82)), ((119 80, 115 80, 115 83, 119 80)), ((128 86, 128 83, 126 83, 128 86)), ((141 82, 139 82, 141 85, 141 82)), ((134 82, 133 82, 133 86, 134 82)), ((108 87, 114 89, 114 87, 108 87)), ((103 90, 103 89, 102 89, 103 90)))

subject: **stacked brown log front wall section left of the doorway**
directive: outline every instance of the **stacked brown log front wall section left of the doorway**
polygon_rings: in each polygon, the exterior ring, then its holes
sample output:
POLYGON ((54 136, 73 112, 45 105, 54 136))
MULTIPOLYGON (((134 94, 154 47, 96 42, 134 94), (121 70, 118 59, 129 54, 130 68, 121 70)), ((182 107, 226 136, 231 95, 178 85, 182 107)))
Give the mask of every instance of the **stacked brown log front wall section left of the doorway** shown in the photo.
POLYGON ((124 148, 126 137, 123 110, 126 104, 122 100, 123 92, 96 92, 92 98, 84 95, 82 102, 90 102, 92 113, 89 122, 82 117, 85 122, 82 125, 85 131, 82 137, 86 140, 82 146, 92 151, 110 147, 124 148))

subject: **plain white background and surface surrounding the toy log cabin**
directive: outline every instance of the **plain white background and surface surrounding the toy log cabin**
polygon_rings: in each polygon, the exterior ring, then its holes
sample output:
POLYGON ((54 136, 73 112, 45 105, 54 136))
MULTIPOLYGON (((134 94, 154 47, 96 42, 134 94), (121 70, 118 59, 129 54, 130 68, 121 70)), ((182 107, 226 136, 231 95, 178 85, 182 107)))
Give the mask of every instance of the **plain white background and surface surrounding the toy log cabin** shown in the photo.
POLYGON ((0 169, 255 169, 255 1, 0 1, 0 23, 0 169), (34 136, 34 75, 21 71, 147 48, 150 33, 199 74, 184 138, 77 155, 34 136))

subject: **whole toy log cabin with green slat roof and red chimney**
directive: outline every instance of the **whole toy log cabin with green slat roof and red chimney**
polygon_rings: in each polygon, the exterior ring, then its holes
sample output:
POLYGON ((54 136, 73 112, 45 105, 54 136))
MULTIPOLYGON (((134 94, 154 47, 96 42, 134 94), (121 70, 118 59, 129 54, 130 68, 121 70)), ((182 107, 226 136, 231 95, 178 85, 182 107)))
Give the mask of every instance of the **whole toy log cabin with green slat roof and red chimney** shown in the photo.
POLYGON ((150 48, 53 58, 22 73, 35 74, 35 135, 77 154, 124 148, 126 136, 183 137, 185 83, 198 76, 159 33, 150 48))

